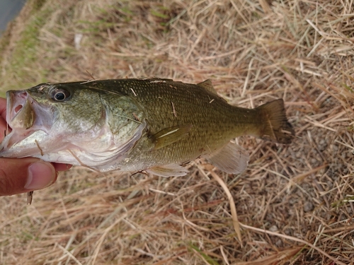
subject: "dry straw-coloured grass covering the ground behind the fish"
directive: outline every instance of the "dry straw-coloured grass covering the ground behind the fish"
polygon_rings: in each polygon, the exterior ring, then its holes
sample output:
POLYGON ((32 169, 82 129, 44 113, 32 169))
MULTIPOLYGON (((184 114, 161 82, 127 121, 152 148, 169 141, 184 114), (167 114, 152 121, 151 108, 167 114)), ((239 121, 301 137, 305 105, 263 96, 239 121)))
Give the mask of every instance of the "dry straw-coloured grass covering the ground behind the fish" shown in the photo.
POLYGON ((353 0, 53 0, 43 20, 28 15, 34 2, 8 32, 3 90, 211 78, 242 107, 283 98, 297 139, 242 137, 251 161, 238 176, 201 160, 167 179, 76 167, 32 206, 2 197, 1 264, 354 264, 353 0), (16 43, 34 19, 28 59, 16 43), (213 175, 235 201, 241 242, 213 175))

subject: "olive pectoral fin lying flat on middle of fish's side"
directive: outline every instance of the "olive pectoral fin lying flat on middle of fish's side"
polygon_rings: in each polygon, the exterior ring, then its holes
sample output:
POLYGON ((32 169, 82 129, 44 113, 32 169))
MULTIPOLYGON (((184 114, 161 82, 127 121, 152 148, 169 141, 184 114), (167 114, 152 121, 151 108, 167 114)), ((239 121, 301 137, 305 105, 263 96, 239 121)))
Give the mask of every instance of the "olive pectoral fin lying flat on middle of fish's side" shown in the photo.
POLYGON ((169 146, 171 143, 181 140, 185 137, 192 128, 192 124, 183 126, 172 126, 162 129, 152 136, 155 143, 155 150, 169 146))

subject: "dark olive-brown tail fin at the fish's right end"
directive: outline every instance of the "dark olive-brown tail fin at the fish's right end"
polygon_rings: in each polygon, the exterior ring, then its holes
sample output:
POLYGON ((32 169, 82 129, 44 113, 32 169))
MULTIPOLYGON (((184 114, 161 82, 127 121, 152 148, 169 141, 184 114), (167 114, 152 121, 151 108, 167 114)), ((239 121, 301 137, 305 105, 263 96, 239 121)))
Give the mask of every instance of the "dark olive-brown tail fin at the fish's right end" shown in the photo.
POLYGON ((287 122, 284 101, 282 99, 265 103, 256 108, 264 121, 260 131, 261 139, 278 143, 290 143, 295 131, 287 122))

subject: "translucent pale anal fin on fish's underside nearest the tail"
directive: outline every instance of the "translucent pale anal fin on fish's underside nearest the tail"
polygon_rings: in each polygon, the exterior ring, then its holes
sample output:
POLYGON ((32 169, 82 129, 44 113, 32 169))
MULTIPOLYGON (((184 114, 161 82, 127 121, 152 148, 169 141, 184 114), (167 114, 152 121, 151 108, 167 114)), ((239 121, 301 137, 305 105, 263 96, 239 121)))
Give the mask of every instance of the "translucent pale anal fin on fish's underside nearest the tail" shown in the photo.
POLYGON ((244 172, 249 163, 249 153, 236 143, 229 142, 214 153, 207 155, 208 162, 229 174, 244 172))

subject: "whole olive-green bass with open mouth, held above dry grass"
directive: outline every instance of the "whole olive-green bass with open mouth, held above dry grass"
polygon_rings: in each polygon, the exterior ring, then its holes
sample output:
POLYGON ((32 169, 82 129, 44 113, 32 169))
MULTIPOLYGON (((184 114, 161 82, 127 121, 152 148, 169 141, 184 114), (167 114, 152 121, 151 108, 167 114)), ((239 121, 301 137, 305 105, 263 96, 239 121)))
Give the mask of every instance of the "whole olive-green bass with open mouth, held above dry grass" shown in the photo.
POLYGON ((249 153, 236 137, 289 144, 295 131, 282 99, 247 109, 230 105, 208 79, 165 78, 41 83, 6 93, 11 129, 0 157, 34 157, 97 172, 183 176, 196 158, 228 174, 243 172, 249 153))

